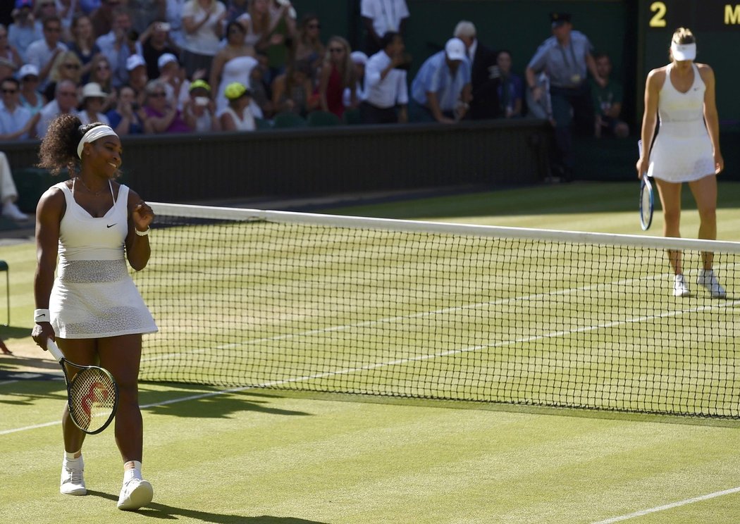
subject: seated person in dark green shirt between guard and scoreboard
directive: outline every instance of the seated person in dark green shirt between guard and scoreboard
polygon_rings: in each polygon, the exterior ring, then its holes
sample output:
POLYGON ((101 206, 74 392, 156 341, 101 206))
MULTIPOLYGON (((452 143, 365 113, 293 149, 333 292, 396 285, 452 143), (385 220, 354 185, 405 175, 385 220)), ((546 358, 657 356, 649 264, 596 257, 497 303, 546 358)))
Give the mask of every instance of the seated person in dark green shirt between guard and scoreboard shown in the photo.
POLYGON ((611 59, 604 52, 593 55, 596 62, 596 71, 606 82, 601 86, 593 78, 591 82, 591 98, 593 98, 593 112, 596 115, 595 135, 600 137, 625 138, 630 135, 630 127, 626 122, 619 120, 622 112, 622 86, 613 81, 611 76, 611 59))

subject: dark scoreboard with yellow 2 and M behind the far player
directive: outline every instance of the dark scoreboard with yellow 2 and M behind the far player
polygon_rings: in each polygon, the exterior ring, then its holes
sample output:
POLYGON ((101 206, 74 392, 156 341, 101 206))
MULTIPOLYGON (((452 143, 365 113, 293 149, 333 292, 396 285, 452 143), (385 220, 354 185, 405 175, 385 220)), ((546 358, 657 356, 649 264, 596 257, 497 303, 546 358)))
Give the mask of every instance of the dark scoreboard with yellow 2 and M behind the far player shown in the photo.
POLYGON ((717 109, 724 123, 740 122, 740 1, 639 0, 638 121, 642 122, 645 78, 668 64, 673 32, 687 27, 696 36, 696 61, 709 64, 717 80, 717 109))

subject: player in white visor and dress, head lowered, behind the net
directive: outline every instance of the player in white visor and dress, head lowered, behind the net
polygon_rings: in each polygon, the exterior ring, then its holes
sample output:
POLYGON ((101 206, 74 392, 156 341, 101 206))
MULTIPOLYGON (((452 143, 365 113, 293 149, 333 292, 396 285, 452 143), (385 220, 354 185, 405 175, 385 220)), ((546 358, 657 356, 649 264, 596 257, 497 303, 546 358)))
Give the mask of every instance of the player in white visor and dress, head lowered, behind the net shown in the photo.
MULTIPOLYGON (((680 237, 681 188, 688 183, 699 209, 699 238, 717 237, 717 181, 724 169, 719 150, 719 118, 715 79, 711 67, 694 63, 696 39, 680 28, 670 44, 672 61, 647 75, 642 143, 653 143, 656 114, 660 129, 652 149, 645 147, 637 162, 637 176, 656 180, 665 219, 666 237, 680 237)), ((669 251, 673 268, 673 295, 689 296, 690 289, 681 265, 681 251, 669 251)), ((726 293, 712 268, 713 254, 702 253, 702 268, 696 283, 713 298, 726 293)))

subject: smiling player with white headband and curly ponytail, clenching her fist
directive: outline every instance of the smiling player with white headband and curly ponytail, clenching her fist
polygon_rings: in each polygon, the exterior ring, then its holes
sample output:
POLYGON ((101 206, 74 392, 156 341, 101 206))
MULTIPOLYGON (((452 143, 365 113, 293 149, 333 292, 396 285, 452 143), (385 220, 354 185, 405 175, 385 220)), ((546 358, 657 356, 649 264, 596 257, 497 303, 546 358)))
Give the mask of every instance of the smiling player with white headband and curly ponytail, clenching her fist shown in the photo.
MULTIPOLYGON (((36 325, 31 333, 46 348, 54 338, 75 364, 99 364, 118 384, 115 440, 124 461, 118 508, 138 509, 152 501, 151 483, 141 476, 143 425, 138 406, 141 335, 157 330, 126 261, 135 270, 149 262, 152 209, 113 179, 121 166, 121 140, 107 125, 81 125, 74 115, 50 124, 39 149, 39 165, 71 180, 55 184, 36 209, 36 325), (57 262, 58 259, 58 262, 57 262), (57 276, 54 276, 54 273, 57 276)), ((59 491, 84 495, 82 444, 85 434, 67 409, 62 417, 64 458, 59 491)))

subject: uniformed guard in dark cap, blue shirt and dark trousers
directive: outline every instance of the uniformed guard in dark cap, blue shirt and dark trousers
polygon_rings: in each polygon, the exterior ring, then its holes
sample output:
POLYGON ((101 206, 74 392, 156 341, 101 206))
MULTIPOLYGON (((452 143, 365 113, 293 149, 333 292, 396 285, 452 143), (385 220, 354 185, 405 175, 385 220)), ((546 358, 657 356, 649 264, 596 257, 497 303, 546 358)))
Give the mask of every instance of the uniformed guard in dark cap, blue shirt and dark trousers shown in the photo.
POLYGON ((532 98, 539 101, 542 88, 536 77, 545 71, 550 77, 550 95, 555 120, 556 158, 554 174, 569 181, 573 177, 573 124, 585 135, 593 135, 593 103, 591 88, 586 81, 591 72, 599 85, 606 80, 596 71, 591 55, 591 41, 579 31, 573 31, 571 15, 550 13, 553 35, 542 42, 525 71, 532 98))

